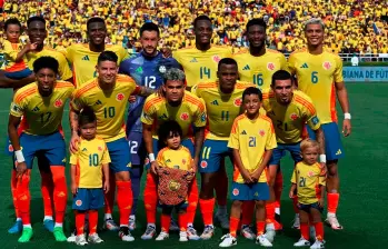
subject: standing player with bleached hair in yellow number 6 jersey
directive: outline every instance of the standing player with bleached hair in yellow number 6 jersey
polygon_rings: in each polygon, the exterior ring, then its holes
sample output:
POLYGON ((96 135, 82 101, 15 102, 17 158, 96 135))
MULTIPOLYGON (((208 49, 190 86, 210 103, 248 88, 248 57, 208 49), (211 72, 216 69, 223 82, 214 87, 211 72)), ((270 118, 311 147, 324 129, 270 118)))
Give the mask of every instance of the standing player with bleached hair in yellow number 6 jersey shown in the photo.
MULTIPOLYGON (((317 107, 322 123, 327 153, 327 200, 326 222, 332 229, 342 229, 336 212, 339 202, 338 159, 344 157, 340 133, 337 126, 336 94, 345 113, 342 133, 351 132, 349 99, 342 77, 342 61, 338 54, 324 49, 325 24, 320 19, 311 19, 305 24, 307 48, 295 51, 288 59, 290 71, 298 79, 298 89, 308 94, 317 107)), ((315 138, 307 128, 310 138, 315 138)))

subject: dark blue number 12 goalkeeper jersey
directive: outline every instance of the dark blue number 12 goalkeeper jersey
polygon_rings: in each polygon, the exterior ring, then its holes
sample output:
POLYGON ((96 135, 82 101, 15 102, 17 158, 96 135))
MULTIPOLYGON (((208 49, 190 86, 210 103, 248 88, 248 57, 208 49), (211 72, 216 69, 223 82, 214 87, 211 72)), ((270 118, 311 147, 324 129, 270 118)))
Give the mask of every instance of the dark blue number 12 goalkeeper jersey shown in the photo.
MULTIPOLYGON (((130 76, 139 86, 158 89, 163 83, 162 72, 169 68, 180 68, 173 58, 163 58, 161 52, 156 57, 146 57, 142 52, 122 61, 120 73, 130 76)), ((129 132, 141 132, 140 116, 146 98, 137 97, 136 102, 129 104, 127 119, 127 136, 129 132)))

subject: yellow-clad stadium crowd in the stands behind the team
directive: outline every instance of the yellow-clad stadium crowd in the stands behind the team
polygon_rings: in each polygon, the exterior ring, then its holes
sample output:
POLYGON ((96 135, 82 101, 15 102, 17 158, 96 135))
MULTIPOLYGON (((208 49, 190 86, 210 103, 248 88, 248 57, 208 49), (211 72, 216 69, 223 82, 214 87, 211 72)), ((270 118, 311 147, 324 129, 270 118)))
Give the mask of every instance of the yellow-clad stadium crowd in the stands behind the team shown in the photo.
MULTIPOLYGON (((269 48, 289 53, 306 43, 304 21, 320 17, 328 27, 326 46, 332 52, 377 54, 388 53, 387 10, 387 1, 377 0, 8 0, 0 24, 12 17, 26 23, 31 16, 42 16, 48 20, 48 46, 60 50, 86 42, 86 22, 99 16, 107 20, 107 43, 138 51, 139 28, 155 22, 162 30, 161 46, 177 50, 195 44, 192 21, 208 14, 213 21, 211 42, 231 44, 238 51, 248 47, 243 36, 248 20, 263 18, 269 48)), ((26 33, 21 40, 27 41, 26 33)))

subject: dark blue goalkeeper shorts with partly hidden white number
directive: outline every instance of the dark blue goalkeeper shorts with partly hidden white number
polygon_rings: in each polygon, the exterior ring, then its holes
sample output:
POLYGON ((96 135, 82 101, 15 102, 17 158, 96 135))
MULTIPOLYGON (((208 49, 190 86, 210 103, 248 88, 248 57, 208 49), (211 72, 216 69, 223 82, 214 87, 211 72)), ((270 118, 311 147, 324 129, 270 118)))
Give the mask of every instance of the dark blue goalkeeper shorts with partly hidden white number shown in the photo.
POLYGON ((141 132, 130 132, 128 143, 131 153, 131 162, 133 166, 142 166, 147 157, 146 145, 141 132))

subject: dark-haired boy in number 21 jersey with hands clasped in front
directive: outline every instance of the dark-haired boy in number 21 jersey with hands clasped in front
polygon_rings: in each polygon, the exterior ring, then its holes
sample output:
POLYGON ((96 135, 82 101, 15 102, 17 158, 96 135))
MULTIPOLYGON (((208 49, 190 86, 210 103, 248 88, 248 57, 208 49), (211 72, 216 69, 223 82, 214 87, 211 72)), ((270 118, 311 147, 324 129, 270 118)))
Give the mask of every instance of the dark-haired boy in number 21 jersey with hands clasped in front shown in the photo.
POLYGON ((259 113, 262 96, 256 87, 242 93, 246 112, 235 119, 228 147, 233 153, 233 183, 231 186, 230 233, 221 238, 220 247, 237 245, 241 206, 245 201, 256 202, 256 243, 272 247, 265 233, 266 201, 269 199, 266 167, 277 147, 271 120, 259 113))

